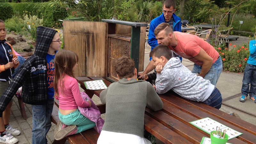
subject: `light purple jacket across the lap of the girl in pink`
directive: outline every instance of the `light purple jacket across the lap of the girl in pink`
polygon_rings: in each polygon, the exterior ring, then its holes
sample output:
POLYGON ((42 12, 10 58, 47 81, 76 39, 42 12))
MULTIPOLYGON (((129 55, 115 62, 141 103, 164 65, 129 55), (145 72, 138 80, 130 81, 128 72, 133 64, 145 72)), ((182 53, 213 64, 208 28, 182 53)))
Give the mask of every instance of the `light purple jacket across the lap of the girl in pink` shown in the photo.
POLYGON ((87 117, 89 120, 93 121, 96 124, 97 132, 100 133, 102 126, 104 124, 104 120, 100 117, 100 110, 99 108, 94 104, 91 98, 85 93, 81 92, 82 99, 85 100, 87 97, 87 100, 89 99, 92 102, 91 107, 81 108, 78 107, 78 110, 82 115, 87 117))

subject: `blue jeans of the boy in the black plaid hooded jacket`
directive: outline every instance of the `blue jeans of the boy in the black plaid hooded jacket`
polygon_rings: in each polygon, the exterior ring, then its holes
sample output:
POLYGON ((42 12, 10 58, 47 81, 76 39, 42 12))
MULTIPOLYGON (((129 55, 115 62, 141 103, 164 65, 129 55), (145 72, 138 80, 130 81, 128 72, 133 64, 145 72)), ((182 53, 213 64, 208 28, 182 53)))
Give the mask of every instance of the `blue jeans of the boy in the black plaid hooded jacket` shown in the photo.
POLYGON ((47 142, 46 134, 52 126, 51 115, 53 104, 54 99, 49 99, 45 105, 32 105, 32 144, 45 144, 47 142))

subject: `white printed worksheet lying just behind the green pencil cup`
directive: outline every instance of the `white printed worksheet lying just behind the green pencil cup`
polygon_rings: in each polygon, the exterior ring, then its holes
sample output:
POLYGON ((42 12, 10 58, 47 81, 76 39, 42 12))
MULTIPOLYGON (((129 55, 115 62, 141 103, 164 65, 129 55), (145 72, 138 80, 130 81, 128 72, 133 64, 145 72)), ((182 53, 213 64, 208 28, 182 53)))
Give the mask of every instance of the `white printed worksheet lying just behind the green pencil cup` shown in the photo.
POLYGON ((219 131, 219 129, 221 132, 226 130, 226 134, 228 134, 228 140, 243 134, 243 133, 237 132, 236 130, 233 130, 233 129, 227 127, 226 125, 221 124, 209 117, 202 118, 202 119, 199 119, 199 120, 196 120, 193 122, 189 122, 189 123, 195 125, 199 129, 201 129, 204 132, 207 132, 209 134, 212 131, 216 131, 216 130, 219 131))

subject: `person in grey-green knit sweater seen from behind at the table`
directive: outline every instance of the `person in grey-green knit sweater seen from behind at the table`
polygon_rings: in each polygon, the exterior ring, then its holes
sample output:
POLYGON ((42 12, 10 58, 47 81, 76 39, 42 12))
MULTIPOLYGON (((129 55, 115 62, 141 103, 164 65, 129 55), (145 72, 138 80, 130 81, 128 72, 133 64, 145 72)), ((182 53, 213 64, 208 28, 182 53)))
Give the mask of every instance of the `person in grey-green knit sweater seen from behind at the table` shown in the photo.
POLYGON ((114 68, 118 82, 100 93, 106 116, 97 144, 151 144, 143 135, 145 108, 157 111, 163 108, 163 102, 149 82, 136 80, 134 60, 122 56, 114 68))

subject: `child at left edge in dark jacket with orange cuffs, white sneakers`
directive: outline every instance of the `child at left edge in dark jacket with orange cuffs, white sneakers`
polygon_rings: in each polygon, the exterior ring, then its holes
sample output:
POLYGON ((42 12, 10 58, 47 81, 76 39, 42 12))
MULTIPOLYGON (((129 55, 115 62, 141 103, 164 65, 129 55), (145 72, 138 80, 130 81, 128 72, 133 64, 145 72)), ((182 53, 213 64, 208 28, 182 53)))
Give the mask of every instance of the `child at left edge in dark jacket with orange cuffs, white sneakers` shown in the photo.
MULTIPOLYGON (((12 81, 12 74, 14 73, 14 68, 19 66, 19 61, 17 56, 12 49, 12 46, 8 44, 5 40, 6 30, 4 21, 0 20, 0 94, 2 95, 4 90, 12 81)), ((6 103, 6 108, 2 111, 3 116, 0 117, 0 142, 14 144, 19 140, 13 136, 20 134, 19 130, 12 128, 9 125, 11 107, 12 107, 12 98, 6 103)))

